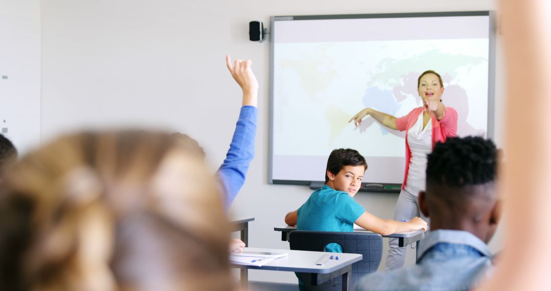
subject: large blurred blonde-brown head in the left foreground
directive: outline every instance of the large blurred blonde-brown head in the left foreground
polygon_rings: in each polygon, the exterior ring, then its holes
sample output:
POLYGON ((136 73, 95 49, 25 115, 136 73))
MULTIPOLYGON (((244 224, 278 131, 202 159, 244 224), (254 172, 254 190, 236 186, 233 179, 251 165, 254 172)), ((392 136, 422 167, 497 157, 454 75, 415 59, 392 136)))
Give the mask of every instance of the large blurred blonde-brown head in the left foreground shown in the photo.
POLYGON ((0 194, 0 285, 233 289, 223 204, 196 150, 165 133, 88 132, 23 157, 0 194))

